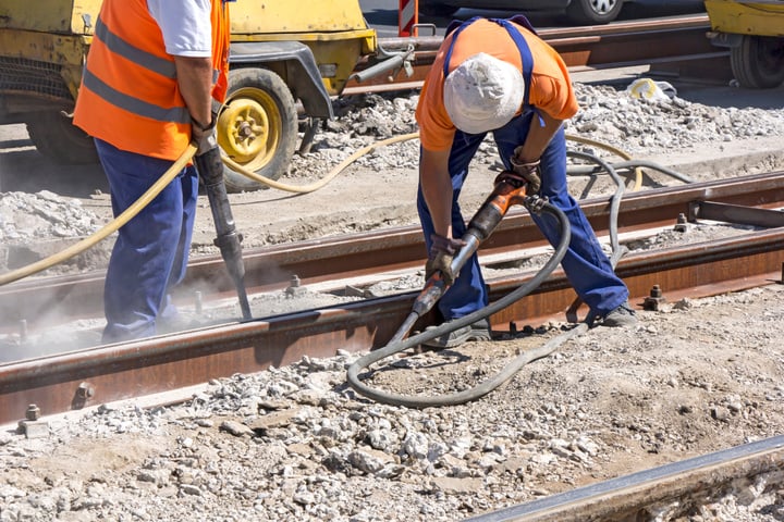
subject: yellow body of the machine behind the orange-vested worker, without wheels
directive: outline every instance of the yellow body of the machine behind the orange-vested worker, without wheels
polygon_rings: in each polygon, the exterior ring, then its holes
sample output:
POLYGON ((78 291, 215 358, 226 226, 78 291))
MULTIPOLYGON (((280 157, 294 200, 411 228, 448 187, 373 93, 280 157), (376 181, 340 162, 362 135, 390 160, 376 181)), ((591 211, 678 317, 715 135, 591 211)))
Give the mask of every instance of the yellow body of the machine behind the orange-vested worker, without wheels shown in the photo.
MULTIPOLYGON (((101 0, 3 0, 0 54, 64 67, 76 97, 81 69, 101 0)), ((341 92, 359 57, 376 52, 376 32, 359 3, 323 0, 243 0, 230 4, 232 41, 291 41, 310 48, 327 91, 341 92)))

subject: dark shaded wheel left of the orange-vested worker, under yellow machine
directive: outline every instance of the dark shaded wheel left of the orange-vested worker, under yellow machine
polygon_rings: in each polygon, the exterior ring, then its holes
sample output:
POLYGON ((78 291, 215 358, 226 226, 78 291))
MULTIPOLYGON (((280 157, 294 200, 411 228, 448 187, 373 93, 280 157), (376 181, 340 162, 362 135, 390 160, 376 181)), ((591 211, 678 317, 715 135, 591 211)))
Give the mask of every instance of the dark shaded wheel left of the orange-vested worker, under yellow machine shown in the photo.
POLYGON ((66 165, 98 163, 93 138, 59 111, 36 113, 26 124, 33 145, 52 161, 66 165))

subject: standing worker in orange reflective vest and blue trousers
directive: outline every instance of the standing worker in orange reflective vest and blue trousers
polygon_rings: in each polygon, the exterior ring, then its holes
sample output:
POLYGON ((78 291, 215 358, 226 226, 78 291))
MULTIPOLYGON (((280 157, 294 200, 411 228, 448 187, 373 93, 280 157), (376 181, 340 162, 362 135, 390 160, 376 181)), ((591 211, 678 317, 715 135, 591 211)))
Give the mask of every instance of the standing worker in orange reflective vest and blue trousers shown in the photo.
MULTIPOLYGON (((192 140, 215 133, 228 88, 233 0, 103 0, 74 124, 94 137, 117 217, 192 140)), ((187 266, 198 175, 188 165, 120 228, 103 289, 103 341, 156 334, 176 318, 172 288, 187 266)))

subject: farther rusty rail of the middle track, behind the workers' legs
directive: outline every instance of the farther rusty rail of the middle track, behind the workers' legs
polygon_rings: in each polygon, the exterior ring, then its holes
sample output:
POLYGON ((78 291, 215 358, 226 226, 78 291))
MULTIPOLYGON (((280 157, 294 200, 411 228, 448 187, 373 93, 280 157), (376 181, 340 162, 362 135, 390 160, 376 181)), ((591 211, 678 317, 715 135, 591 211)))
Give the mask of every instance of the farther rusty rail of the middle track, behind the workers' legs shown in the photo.
MULTIPOLYGON (((695 202, 712 201, 743 208, 784 207, 784 172, 757 174, 677 187, 628 192, 621 202, 618 231, 673 226, 681 214, 697 219, 695 202)), ((610 204, 607 198, 580 202, 599 235, 607 235, 610 204)), ((703 210, 703 214, 707 210, 703 210)), ((737 211, 736 211, 737 212, 737 211)), ((708 217, 711 219, 711 217, 708 217)), ((746 222, 750 223, 750 217, 746 222)), ((242 231, 241 231, 242 232, 242 231)), ((524 209, 512 210, 486 241, 480 254, 499 254, 547 245, 524 209)), ((422 265, 425 244, 418 226, 403 226, 275 245, 244 252, 245 282, 250 293, 280 290, 293 277, 302 285, 324 283, 368 274, 416 269, 422 265)), ((0 287, 0 327, 15 331, 21 321, 34 328, 73 316, 100 316, 103 272, 82 276, 40 277, 0 287)), ((194 293, 205 300, 231 298, 234 283, 225 274, 220 256, 192 260, 177 294, 181 303, 191 303, 194 293)))

